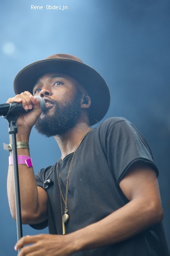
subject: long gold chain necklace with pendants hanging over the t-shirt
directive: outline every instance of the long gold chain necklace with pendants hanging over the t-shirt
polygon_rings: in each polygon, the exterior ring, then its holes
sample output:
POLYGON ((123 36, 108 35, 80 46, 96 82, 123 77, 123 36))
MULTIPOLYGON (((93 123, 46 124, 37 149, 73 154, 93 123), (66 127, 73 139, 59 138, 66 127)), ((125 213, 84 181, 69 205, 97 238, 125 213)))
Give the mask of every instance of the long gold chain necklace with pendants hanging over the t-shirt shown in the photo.
POLYGON ((74 154, 72 155, 72 158, 71 158, 71 162, 70 162, 70 165, 69 165, 69 168, 68 168, 68 175, 67 175, 67 183, 66 183, 66 193, 65 193, 65 200, 64 200, 64 197, 63 197, 63 193, 62 193, 62 190, 61 190, 61 158, 59 160, 59 173, 58 173, 58 164, 57 164, 57 178, 58 178, 58 184, 59 184, 59 188, 60 188, 60 202, 61 202, 61 215, 62 215, 62 227, 63 227, 63 234, 66 234, 66 229, 65 229, 65 223, 68 221, 69 219, 69 216, 67 214, 67 195, 68 195, 68 177, 69 177, 69 173, 70 173, 70 169, 71 169, 71 165, 72 165, 72 162, 75 158, 75 154, 76 154, 76 151, 78 149, 78 147, 80 146, 80 143, 81 141, 83 140, 83 138, 92 130, 92 128, 90 128, 90 130, 83 135, 83 137, 80 139, 80 141, 78 142, 77 146, 76 146, 76 149, 74 151, 74 154), (63 202, 64 202, 64 215, 63 215, 63 210, 62 210, 62 199, 63 199, 63 202))

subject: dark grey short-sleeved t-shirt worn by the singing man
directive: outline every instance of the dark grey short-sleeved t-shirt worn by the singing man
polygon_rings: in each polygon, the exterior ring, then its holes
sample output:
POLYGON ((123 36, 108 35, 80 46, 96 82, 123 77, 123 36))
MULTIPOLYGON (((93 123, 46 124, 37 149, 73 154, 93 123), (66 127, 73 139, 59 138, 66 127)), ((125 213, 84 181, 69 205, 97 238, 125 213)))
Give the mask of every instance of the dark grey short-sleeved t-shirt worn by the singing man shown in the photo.
MULTIPOLYGON (((61 161, 61 188, 65 198, 67 174, 72 154, 61 161)), ((74 232, 102 220, 129 201, 119 182, 137 161, 150 165, 158 175, 151 149, 132 123, 125 118, 107 119, 90 131, 80 144, 72 162, 68 183, 68 215, 66 233, 74 232)), ((48 225, 52 234, 62 234, 58 163, 41 169, 36 175, 38 186, 51 179, 48 195, 48 220, 32 225, 42 229, 48 225)), ((64 203, 63 203, 64 212, 64 203)), ((126 241, 74 255, 166 256, 168 249, 162 224, 157 224, 126 241)))

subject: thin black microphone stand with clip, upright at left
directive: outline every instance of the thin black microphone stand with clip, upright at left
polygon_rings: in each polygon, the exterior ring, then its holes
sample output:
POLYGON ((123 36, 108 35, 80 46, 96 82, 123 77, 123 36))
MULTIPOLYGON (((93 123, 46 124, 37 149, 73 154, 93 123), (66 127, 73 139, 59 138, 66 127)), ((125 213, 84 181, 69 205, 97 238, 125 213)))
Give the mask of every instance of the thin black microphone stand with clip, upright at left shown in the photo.
POLYGON ((17 147, 16 147, 16 134, 18 132, 16 120, 18 116, 22 113, 22 111, 23 111, 23 108, 21 104, 12 103, 12 105, 10 104, 10 108, 7 115, 3 116, 3 118, 7 119, 7 121, 9 122, 9 134, 11 135, 11 142, 12 142, 17 241, 22 237, 22 221, 21 221, 19 174, 18 174, 18 160, 17 160, 17 147))

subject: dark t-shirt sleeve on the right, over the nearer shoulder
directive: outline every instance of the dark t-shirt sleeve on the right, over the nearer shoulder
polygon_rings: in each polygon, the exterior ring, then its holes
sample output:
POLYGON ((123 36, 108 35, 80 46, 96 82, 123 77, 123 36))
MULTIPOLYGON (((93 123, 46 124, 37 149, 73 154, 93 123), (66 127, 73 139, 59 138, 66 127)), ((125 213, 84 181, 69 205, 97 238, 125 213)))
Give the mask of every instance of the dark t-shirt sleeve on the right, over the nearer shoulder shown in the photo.
POLYGON ((105 146, 108 163, 117 183, 137 161, 145 162, 158 175, 158 168, 148 142, 128 120, 118 120, 109 125, 105 146))

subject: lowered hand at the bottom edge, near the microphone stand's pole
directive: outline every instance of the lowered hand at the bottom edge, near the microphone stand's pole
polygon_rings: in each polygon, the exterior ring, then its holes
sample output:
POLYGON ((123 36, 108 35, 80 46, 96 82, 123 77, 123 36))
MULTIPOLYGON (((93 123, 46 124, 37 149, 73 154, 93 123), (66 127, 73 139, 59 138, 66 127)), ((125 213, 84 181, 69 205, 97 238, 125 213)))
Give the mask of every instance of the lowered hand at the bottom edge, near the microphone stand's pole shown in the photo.
POLYGON ((15 245, 15 250, 18 250, 26 244, 31 244, 23 247, 18 256, 68 256, 75 252, 72 248, 74 243, 71 243, 70 235, 60 236, 57 234, 38 234, 37 236, 22 237, 15 245))

